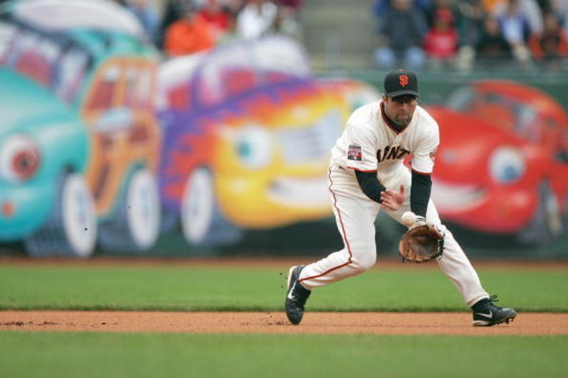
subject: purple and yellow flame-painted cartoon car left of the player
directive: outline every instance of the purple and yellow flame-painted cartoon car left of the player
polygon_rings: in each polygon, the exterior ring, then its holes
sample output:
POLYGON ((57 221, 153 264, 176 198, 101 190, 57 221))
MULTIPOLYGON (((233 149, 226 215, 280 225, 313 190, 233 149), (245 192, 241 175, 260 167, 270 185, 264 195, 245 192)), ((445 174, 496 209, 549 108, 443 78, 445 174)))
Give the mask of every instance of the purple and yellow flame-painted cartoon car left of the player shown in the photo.
POLYGON ((378 99, 359 82, 315 79, 281 37, 172 60, 159 82, 163 211, 190 245, 330 216, 329 149, 352 107, 378 99))

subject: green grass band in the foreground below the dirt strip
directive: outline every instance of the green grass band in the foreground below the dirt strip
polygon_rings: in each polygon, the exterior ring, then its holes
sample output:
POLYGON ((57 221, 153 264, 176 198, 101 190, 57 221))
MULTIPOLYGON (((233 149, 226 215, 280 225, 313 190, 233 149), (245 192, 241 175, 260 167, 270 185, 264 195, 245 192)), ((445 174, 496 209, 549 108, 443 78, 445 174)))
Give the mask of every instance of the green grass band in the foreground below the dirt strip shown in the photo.
POLYGON ((0 332, 3 377, 566 377, 568 336, 0 332))

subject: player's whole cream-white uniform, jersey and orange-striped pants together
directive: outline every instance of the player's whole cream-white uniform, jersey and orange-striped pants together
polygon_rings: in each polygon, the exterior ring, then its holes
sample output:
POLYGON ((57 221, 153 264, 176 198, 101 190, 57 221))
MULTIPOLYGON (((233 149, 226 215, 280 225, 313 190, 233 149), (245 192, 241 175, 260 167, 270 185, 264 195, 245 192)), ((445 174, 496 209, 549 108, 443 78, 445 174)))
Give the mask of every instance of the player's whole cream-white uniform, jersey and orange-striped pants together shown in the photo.
MULTIPOLYGON (((332 149, 329 167, 329 196, 344 248, 302 269, 299 282, 303 287, 311 290, 361 274, 376 262, 375 219, 382 206, 363 193, 354 169, 376 170, 381 184, 390 189, 398 190, 398 185, 405 185, 405 201, 400 208, 382 209, 401 222, 403 213, 410 211, 411 185, 411 174, 403 160, 413 154, 413 170, 429 174, 438 144, 438 125, 420 106, 401 133, 396 133, 383 119, 381 102, 354 111, 332 149)), ((479 299, 488 298, 474 267, 452 233, 442 225, 432 201, 427 207, 426 220, 445 231, 444 255, 437 262, 459 289, 464 302, 471 306, 479 299)))

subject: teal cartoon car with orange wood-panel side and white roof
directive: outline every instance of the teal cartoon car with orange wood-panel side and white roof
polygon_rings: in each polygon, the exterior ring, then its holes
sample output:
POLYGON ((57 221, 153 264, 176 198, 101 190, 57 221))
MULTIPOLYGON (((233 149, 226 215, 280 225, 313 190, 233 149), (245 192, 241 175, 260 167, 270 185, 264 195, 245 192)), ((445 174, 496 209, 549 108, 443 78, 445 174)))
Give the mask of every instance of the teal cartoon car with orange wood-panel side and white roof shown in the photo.
POLYGON ((151 248, 161 140, 141 28, 104 1, 1 10, 0 240, 31 255, 151 248))

